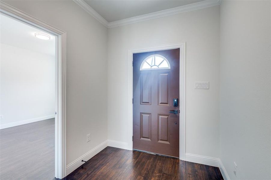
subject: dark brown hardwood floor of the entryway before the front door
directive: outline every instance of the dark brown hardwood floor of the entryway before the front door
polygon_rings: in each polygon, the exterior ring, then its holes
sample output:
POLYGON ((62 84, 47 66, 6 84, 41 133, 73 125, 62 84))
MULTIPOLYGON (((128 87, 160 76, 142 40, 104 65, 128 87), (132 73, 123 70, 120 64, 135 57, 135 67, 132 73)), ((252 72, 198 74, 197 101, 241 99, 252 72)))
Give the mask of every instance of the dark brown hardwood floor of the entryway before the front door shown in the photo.
POLYGON ((218 167, 181 161, 138 151, 106 147, 65 180, 215 180, 223 179, 218 167))

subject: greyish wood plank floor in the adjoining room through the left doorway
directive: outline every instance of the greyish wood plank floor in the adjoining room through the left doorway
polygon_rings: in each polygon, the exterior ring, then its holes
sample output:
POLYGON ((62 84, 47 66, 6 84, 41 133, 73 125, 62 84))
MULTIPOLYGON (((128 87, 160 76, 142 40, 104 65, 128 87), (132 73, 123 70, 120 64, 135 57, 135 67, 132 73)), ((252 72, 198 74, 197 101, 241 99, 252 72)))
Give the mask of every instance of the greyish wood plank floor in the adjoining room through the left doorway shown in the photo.
POLYGON ((54 147, 54 118, 1 129, 0 179, 54 179, 54 147))

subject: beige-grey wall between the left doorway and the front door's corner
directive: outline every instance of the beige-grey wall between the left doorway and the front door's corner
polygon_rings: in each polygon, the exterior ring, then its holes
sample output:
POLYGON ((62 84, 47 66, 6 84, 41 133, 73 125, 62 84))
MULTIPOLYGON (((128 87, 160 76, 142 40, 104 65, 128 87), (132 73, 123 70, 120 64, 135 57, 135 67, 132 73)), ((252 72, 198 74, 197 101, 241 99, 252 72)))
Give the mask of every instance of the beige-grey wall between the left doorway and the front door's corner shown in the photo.
POLYGON ((107 140, 107 28, 73 1, 5 2, 67 32, 68 165, 107 140))

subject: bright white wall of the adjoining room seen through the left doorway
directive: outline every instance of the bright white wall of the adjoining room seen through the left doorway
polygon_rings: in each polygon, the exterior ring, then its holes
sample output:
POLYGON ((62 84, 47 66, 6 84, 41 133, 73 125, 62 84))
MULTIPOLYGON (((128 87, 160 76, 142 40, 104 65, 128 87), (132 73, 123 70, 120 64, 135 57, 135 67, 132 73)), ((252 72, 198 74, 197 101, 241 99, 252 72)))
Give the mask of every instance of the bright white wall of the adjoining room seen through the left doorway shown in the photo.
POLYGON ((1 128, 53 118, 55 57, 6 44, 0 50, 1 128))

